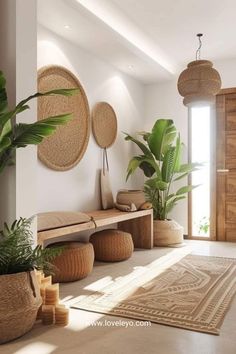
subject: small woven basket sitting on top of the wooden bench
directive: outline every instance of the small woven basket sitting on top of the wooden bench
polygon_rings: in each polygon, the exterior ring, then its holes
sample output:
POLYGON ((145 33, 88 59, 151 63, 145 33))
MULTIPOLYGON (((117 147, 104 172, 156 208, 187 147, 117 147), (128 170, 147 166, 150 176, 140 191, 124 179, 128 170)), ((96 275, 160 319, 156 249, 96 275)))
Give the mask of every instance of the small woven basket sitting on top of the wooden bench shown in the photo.
POLYGON ((120 189, 116 196, 116 203, 121 205, 134 204, 138 210, 145 203, 145 195, 142 190, 120 189))

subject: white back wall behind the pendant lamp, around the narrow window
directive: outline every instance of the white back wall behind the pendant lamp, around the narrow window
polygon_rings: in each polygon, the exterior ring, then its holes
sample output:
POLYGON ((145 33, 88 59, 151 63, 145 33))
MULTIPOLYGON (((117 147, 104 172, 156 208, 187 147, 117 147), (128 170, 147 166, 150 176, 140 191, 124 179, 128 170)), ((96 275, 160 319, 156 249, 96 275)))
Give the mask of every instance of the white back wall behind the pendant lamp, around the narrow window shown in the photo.
MULTIPOLYGON (((222 79, 222 88, 236 87, 236 59, 214 62, 222 79)), ((171 118, 181 133, 181 139, 188 143, 188 110, 182 103, 182 97, 177 90, 177 78, 159 84, 147 85, 145 89, 146 130, 152 128, 158 118, 171 118)), ((180 201, 172 212, 172 217, 184 226, 187 233, 187 199, 180 201)))

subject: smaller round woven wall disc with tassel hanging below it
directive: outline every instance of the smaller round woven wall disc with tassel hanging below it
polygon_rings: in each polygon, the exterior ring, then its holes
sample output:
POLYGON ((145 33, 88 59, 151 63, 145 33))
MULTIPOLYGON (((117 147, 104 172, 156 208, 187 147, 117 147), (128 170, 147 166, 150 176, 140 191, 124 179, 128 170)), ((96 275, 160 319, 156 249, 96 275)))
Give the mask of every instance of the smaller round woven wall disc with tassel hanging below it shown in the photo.
POLYGON ((117 135, 117 119, 114 109, 107 102, 97 103, 92 111, 92 130, 101 148, 111 146, 117 135))

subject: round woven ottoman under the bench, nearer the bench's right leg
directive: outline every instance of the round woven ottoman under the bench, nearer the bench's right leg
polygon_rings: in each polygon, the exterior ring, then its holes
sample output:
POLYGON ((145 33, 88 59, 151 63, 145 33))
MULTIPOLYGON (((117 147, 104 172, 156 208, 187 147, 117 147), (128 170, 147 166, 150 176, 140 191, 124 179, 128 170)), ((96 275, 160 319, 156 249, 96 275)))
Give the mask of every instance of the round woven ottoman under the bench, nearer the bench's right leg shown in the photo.
POLYGON ((95 232, 89 241, 93 244, 95 259, 102 262, 124 261, 134 250, 131 235, 116 229, 95 232))

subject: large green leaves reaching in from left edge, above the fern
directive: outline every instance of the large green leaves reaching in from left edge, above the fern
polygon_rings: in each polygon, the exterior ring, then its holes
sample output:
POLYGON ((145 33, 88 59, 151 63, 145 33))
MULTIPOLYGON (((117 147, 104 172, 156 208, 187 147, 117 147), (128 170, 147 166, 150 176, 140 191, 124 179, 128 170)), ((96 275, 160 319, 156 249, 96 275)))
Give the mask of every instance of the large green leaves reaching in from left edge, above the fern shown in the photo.
POLYGON ((13 109, 8 107, 6 79, 0 71, 0 174, 4 168, 14 161, 17 148, 27 145, 38 145, 44 138, 53 134, 58 125, 66 124, 72 119, 70 113, 48 117, 32 124, 14 123, 17 114, 29 109, 30 100, 51 95, 72 96, 78 89, 58 89, 45 93, 37 92, 22 100, 13 109))

